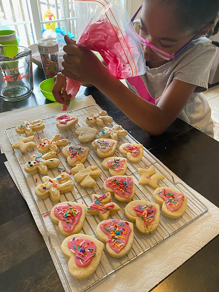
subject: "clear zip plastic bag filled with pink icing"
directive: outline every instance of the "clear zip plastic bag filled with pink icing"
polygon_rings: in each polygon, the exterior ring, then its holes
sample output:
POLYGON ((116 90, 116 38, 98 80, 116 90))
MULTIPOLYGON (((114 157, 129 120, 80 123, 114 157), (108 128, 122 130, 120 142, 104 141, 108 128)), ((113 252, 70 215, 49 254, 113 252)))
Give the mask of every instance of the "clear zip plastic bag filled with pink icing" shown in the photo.
MULTIPOLYGON (((75 0, 76 45, 100 53, 117 79, 143 75, 145 60, 127 12, 119 1, 75 0)), ((81 83, 67 78, 66 92, 75 98, 81 83)))

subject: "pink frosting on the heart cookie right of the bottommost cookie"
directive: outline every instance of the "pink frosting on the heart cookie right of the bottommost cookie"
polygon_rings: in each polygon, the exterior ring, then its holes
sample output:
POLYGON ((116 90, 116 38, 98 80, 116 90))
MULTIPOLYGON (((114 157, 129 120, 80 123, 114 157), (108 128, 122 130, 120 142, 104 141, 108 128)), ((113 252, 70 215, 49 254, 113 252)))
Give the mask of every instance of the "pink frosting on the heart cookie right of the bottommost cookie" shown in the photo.
POLYGON ((114 252, 119 253, 127 245, 132 231, 128 222, 112 219, 102 221, 99 227, 108 236, 107 242, 114 252))

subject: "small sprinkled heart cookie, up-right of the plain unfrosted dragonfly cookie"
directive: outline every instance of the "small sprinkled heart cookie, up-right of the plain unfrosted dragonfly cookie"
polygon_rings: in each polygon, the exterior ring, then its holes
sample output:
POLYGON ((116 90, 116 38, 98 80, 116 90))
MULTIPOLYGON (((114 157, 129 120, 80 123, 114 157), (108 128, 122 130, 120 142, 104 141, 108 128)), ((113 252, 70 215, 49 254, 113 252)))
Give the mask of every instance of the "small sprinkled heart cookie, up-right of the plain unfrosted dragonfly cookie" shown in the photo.
POLYGON ((123 176, 127 170, 127 159, 111 156, 104 158, 102 165, 105 169, 109 170, 111 176, 123 176))

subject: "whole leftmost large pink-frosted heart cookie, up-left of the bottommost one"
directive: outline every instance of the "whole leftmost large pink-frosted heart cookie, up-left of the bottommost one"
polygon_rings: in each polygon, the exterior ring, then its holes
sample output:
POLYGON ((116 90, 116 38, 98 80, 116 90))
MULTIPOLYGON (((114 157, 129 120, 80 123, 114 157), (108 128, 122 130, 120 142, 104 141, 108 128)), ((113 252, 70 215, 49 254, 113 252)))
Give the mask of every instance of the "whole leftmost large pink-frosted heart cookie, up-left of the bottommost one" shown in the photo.
POLYGON ((58 224, 62 235, 78 233, 85 221, 86 206, 75 202, 61 202, 55 205, 50 213, 51 220, 58 224))

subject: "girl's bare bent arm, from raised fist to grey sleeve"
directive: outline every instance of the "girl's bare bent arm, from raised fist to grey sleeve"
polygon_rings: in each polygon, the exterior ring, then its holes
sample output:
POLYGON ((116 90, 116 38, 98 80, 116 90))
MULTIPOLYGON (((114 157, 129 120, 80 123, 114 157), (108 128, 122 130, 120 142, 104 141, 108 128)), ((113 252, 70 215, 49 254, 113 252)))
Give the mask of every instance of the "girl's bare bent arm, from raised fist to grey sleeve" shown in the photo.
MULTIPOLYGON (((66 43, 70 40, 66 38, 66 43)), ((132 92, 120 80, 111 77, 107 68, 90 50, 68 44, 64 46, 64 51, 63 75, 78 82, 93 84, 150 135, 162 134, 172 124, 196 88, 196 85, 173 80, 158 104, 154 105, 132 92)))

